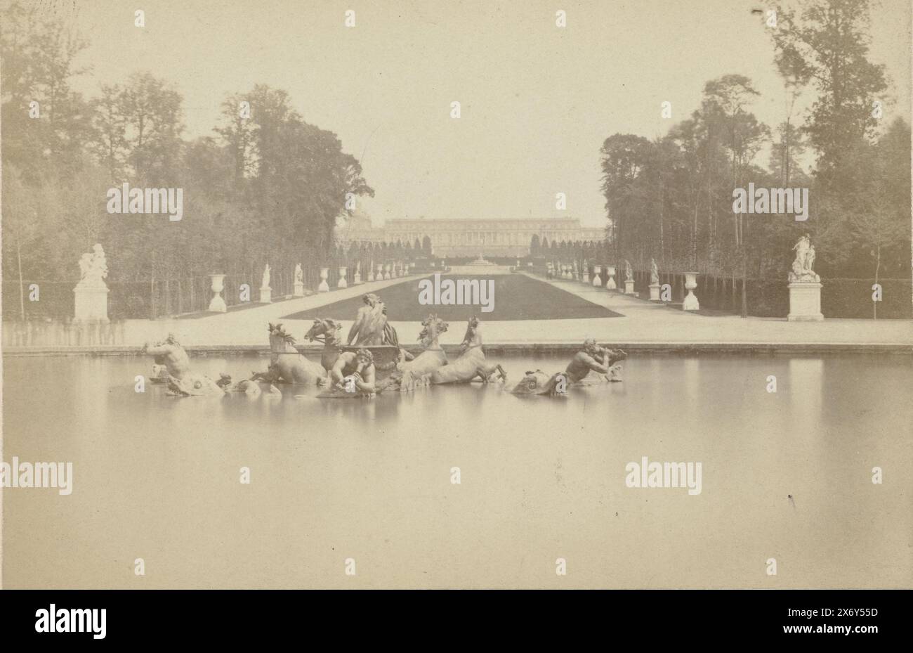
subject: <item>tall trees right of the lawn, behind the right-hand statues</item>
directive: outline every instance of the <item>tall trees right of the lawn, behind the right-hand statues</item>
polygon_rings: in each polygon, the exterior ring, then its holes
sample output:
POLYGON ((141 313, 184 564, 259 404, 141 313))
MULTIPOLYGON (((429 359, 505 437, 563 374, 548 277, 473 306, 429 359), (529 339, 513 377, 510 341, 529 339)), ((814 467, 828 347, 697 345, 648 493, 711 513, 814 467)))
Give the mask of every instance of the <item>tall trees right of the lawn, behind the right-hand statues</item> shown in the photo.
POLYGON ((750 78, 728 74, 709 80, 698 109, 662 138, 615 133, 603 142, 614 258, 639 269, 656 258, 666 271, 785 279, 792 244, 808 233, 823 278, 909 279, 910 128, 890 117, 885 68, 868 59, 868 0, 776 11, 779 124, 751 112, 760 93, 750 78), (796 115, 809 95, 809 110, 796 115), (808 188, 809 219, 735 212, 733 190, 750 183, 808 188))

